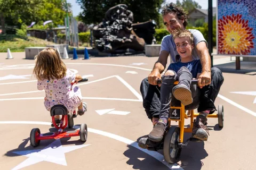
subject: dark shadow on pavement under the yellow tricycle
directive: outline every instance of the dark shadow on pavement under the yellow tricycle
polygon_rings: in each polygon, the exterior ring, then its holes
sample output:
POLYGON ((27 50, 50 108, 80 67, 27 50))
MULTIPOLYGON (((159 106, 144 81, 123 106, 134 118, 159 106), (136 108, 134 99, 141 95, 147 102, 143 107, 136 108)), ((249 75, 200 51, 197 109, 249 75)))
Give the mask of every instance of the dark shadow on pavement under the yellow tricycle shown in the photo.
MULTIPOLYGON (((147 135, 138 138, 137 142, 139 142, 139 140, 144 137, 147 137, 147 135)), ((189 139, 190 137, 191 133, 185 133, 184 141, 187 141, 187 139, 189 139)), ((138 143, 134 143, 134 145, 138 145, 138 143)), ((164 164, 159 162, 157 159, 151 157, 150 155, 146 154, 145 152, 142 152, 131 145, 127 147, 128 149, 124 152, 124 155, 128 157, 129 160, 126 163, 132 165, 133 169, 169 169, 169 167, 166 167, 164 164)), ((156 152, 163 155, 163 150, 158 150, 156 152)), ((177 163, 180 168, 173 167, 173 169, 201 169, 204 165, 202 159, 207 156, 208 154, 204 149, 204 142, 189 141, 188 145, 184 147, 181 151, 180 160, 177 163)), ((173 166, 177 165, 173 164, 173 166)))

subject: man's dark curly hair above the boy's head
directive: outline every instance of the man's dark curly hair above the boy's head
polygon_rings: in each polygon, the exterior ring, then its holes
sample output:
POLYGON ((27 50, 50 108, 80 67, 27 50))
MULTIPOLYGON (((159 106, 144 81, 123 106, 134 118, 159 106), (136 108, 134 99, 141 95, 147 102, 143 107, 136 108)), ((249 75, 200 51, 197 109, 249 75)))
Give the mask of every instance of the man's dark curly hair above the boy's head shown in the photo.
POLYGON ((188 22, 187 22, 187 13, 185 12, 185 10, 183 10, 182 7, 175 5, 174 3, 166 4, 162 7, 162 16, 171 12, 174 12, 177 15, 177 18, 179 20, 182 20, 182 19, 184 20, 183 27, 186 28, 186 26, 188 25, 188 22))

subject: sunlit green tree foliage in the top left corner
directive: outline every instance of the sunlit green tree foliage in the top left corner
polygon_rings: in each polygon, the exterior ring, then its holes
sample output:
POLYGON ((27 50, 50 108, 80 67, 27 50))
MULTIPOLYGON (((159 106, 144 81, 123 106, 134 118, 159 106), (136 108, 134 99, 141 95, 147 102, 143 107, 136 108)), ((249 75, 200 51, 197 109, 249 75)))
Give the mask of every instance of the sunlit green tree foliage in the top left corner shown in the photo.
MULTIPOLYGON (((70 4, 68 4, 70 8, 70 4)), ((52 20, 54 27, 64 23, 66 11, 63 9, 62 0, 0 0, 0 18, 3 32, 5 24, 30 25, 35 21, 43 24, 52 20)), ((69 12, 70 15, 70 12, 69 12)))

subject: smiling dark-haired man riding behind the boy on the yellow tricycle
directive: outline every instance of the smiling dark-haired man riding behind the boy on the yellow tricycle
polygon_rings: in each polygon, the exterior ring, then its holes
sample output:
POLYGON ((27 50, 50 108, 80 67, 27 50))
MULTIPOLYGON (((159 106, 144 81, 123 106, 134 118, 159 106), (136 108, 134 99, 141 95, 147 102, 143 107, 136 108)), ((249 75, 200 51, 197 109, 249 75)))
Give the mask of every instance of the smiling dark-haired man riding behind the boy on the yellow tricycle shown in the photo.
MULTIPOLYGON (((170 54, 171 63, 176 62, 175 56, 178 55, 172 33, 177 30, 185 30, 187 26, 187 16, 181 7, 177 7, 173 3, 166 4, 162 8, 163 21, 166 29, 171 33, 163 37, 161 43, 161 51, 153 70, 148 75, 148 78, 143 79, 140 86, 140 91, 143 98, 143 107, 147 113, 148 118, 151 119, 153 125, 157 124, 159 120, 159 113, 161 111, 161 87, 157 86, 157 79, 161 78, 161 73, 165 70, 167 59, 170 54)), ((193 137, 206 135, 207 140, 207 115, 217 111, 214 101, 218 95, 220 87, 224 81, 221 71, 216 68, 211 68, 211 58, 207 49, 207 42, 201 32, 198 30, 189 31, 194 36, 194 45, 192 55, 194 60, 201 60, 202 73, 198 77, 198 86, 200 89, 198 113, 195 124, 193 126, 193 137), (207 111, 207 112, 205 112, 207 111)), ((170 109, 170 108, 169 108, 170 109)), ((147 138, 142 138, 139 141, 139 146, 145 148, 150 145, 147 138)))

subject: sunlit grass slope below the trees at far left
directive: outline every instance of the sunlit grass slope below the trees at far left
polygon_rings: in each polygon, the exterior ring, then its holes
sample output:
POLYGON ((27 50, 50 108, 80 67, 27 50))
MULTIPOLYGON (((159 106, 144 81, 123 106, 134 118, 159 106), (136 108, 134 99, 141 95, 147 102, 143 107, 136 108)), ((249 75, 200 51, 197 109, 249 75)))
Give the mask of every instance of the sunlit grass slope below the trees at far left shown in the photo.
POLYGON ((0 35, 0 52, 25 52, 26 47, 45 47, 54 44, 35 37, 21 37, 17 35, 0 35))

